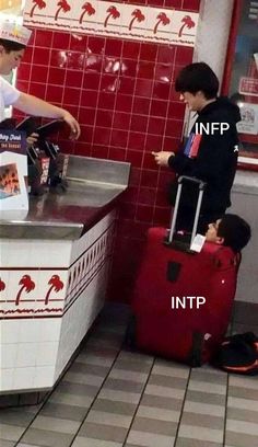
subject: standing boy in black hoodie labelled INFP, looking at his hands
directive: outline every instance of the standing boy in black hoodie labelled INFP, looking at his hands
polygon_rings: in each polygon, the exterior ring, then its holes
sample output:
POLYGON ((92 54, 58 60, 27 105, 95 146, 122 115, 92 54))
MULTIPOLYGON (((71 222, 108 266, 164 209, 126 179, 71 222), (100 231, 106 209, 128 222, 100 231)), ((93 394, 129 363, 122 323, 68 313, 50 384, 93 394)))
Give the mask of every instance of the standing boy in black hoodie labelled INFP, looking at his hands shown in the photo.
MULTIPOLYGON (((197 121, 179 152, 152 153, 157 164, 168 165, 177 175, 194 176, 207 183, 198 227, 198 231, 204 233, 208 224, 223 216, 231 205, 238 154, 239 108, 227 98, 218 98, 219 80, 204 62, 183 68, 175 89, 189 110, 197 112, 197 121)), ((196 204, 197 190, 186 184, 177 229, 192 228, 196 204)))

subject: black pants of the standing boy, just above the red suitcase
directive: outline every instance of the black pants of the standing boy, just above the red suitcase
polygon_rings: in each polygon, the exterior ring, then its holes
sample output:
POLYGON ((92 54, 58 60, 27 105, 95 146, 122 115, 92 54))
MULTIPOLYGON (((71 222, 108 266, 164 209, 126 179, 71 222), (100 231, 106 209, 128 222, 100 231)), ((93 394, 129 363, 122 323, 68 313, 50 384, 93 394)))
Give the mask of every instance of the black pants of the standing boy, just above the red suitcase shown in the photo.
MULTIPOLYGON (((176 221, 176 230, 191 231, 194 227, 196 209, 179 206, 176 221)), ((201 211, 199 217, 199 222, 197 227, 197 232, 200 234, 206 234, 208 230, 208 225, 215 222, 218 219, 225 214, 225 208, 216 210, 201 211)))

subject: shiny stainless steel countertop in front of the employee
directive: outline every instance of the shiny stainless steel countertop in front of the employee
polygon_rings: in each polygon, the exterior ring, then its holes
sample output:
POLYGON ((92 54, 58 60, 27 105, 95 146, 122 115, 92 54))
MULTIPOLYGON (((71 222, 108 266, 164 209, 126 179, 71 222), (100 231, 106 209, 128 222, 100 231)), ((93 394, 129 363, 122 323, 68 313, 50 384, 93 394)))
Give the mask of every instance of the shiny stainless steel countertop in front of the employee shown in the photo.
POLYGON ((0 221, 0 238, 79 239, 127 188, 130 163, 70 156, 67 191, 30 197, 24 218, 0 221))

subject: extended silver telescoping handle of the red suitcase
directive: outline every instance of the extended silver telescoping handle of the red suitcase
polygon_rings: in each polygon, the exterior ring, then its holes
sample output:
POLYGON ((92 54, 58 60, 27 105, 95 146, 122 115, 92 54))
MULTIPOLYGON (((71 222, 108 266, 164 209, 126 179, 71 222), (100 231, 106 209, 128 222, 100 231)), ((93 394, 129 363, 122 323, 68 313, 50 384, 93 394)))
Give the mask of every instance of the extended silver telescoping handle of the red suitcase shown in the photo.
POLYGON ((196 177, 190 177, 187 175, 181 175, 178 177, 178 188, 177 188, 177 194, 176 194, 176 203, 174 207, 174 211, 172 215, 171 219, 171 229, 169 229, 169 234, 168 234, 168 244, 172 243, 173 237, 175 233, 175 228, 176 228, 176 219, 177 219, 177 213, 178 213, 178 207, 179 207, 179 202, 180 202, 180 195, 181 195, 181 187, 183 187, 183 182, 191 182, 191 183, 197 183, 199 185, 199 196, 198 196, 198 202, 197 202, 197 207, 196 207, 196 215, 195 215, 195 221, 194 221, 194 227, 191 231, 191 241, 190 241, 190 247, 191 243, 196 237, 197 232, 197 226, 198 226, 198 220, 200 216, 200 209, 201 209, 201 202, 202 202, 202 196, 206 187, 206 182, 202 182, 202 180, 196 179, 196 177))

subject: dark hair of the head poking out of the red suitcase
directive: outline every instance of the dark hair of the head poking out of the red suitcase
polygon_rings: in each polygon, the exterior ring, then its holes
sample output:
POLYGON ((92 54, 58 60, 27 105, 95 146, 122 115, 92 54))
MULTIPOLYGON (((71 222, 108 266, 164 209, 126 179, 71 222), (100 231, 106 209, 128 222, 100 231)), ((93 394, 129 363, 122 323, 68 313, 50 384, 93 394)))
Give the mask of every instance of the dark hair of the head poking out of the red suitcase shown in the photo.
POLYGON ((231 247, 234 252, 239 252, 249 242, 251 230, 242 217, 225 214, 218 228, 216 234, 224 238, 224 245, 231 247))

